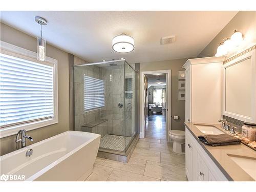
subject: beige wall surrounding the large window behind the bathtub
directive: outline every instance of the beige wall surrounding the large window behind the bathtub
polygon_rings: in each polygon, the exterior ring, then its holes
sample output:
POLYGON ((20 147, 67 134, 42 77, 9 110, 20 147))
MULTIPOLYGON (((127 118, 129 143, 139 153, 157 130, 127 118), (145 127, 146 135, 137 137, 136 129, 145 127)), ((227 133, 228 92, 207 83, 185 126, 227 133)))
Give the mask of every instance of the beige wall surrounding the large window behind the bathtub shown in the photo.
MULTIPOLYGON (((1 23, 1 40, 36 52, 36 38, 1 23)), ((69 130, 69 56, 51 45, 47 45, 47 56, 58 60, 58 111, 59 123, 28 132, 35 142, 69 130)), ((32 144, 27 140, 27 144, 32 144)), ((0 139, 0 155, 16 150, 15 136, 0 139)))

